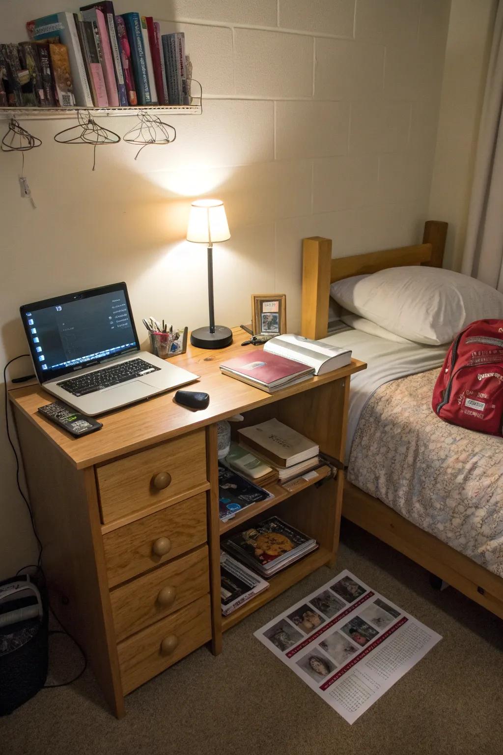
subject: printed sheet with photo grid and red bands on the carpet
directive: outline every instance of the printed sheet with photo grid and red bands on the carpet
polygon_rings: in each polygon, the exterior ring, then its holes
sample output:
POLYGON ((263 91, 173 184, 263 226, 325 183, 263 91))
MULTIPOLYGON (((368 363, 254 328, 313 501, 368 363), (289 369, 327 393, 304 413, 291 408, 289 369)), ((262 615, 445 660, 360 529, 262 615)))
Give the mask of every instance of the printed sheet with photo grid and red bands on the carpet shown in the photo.
POLYGON ((442 639, 347 569, 255 636, 348 723, 442 639))

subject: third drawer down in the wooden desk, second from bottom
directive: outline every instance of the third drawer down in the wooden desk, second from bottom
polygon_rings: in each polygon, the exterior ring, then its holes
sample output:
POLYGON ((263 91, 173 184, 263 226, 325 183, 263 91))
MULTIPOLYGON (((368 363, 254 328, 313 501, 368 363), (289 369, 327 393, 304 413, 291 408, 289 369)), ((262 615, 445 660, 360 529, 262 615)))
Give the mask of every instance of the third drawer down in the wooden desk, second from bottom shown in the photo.
POLYGON ((192 603, 210 590, 208 549, 160 566, 112 590, 112 614, 118 641, 192 603))

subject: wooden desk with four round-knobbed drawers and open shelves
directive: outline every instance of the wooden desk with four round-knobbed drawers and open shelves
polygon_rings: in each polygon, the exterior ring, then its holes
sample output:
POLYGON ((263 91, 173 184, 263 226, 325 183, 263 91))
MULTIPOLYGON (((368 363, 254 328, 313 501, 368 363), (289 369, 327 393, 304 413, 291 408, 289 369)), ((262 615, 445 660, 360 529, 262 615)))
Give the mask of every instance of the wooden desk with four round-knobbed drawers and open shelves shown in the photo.
POLYGON ((366 365, 354 359, 269 395, 219 371, 223 359, 259 351, 241 347, 246 337, 234 328, 227 349, 189 346, 173 359, 201 375, 193 388, 210 394, 204 411, 164 393, 105 415, 103 430, 74 439, 38 414, 54 400, 41 387, 9 392, 54 607, 84 647, 116 716, 128 692, 208 641, 219 653, 222 631, 335 562, 342 471, 333 479, 326 467, 295 494, 269 486, 275 498, 220 522, 216 422, 237 413, 244 424, 276 417, 342 461, 349 377, 366 365), (220 535, 271 507, 320 547, 222 620, 220 535))

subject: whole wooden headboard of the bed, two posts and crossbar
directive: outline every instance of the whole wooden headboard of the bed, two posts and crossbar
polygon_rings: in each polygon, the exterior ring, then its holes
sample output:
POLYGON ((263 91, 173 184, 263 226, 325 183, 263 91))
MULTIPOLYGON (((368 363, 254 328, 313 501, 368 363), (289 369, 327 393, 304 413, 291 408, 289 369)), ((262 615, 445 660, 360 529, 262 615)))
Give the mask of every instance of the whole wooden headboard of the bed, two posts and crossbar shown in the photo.
POLYGON ((330 283, 351 276, 376 273, 388 267, 442 267, 447 223, 427 220, 422 244, 370 251, 333 260, 332 242, 321 236, 304 239, 302 246, 302 325, 307 338, 324 338, 328 330, 330 283))

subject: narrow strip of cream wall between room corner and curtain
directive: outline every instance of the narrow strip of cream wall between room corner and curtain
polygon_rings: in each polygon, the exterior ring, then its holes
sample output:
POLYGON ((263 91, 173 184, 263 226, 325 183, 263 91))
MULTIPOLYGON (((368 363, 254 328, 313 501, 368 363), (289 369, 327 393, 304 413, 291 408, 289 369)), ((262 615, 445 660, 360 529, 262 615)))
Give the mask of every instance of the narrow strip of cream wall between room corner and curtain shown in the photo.
POLYGON ((497 0, 452 0, 430 217, 447 220, 445 267, 460 270, 497 0))

